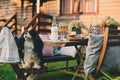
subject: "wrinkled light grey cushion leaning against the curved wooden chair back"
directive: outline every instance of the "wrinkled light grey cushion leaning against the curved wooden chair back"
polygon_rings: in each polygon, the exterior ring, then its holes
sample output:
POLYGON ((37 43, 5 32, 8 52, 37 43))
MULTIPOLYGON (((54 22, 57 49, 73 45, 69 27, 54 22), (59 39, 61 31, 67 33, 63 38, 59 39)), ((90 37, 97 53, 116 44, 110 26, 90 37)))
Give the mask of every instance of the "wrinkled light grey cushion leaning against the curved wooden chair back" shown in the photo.
POLYGON ((84 70, 87 77, 95 70, 102 47, 102 42, 103 35, 90 34, 84 62, 84 70))

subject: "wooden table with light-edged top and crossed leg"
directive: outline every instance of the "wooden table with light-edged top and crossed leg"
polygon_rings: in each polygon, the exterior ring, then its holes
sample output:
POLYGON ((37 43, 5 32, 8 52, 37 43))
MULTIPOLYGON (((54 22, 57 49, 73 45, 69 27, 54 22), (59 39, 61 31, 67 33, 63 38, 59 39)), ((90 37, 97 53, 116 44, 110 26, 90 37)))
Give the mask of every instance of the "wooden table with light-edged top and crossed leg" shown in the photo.
POLYGON ((87 45, 88 39, 80 39, 76 41, 51 41, 51 40, 45 40, 44 45, 46 46, 57 46, 57 47, 65 47, 65 46, 75 46, 77 50, 77 57, 80 59, 78 68, 76 69, 76 72, 72 78, 72 80, 75 80, 76 74, 80 71, 79 68, 84 63, 84 59, 81 54, 81 50, 79 50, 78 45, 87 45))

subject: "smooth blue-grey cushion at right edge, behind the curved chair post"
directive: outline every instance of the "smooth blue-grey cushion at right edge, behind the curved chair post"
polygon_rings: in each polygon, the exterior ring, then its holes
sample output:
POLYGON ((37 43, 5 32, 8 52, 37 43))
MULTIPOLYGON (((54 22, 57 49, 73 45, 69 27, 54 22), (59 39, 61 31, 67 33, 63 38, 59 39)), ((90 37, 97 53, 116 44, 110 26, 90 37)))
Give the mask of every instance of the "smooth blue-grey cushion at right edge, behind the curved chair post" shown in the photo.
POLYGON ((101 69, 104 71, 120 71, 120 46, 108 46, 101 69))

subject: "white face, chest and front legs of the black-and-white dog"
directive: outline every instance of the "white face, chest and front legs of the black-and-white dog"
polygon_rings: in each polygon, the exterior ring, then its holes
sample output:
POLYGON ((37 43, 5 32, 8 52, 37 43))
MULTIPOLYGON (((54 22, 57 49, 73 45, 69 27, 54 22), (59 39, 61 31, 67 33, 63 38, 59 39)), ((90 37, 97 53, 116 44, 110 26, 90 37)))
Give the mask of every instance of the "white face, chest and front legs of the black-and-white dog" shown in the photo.
POLYGON ((24 34, 24 63, 22 63, 22 68, 36 68, 40 69, 40 58, 34 51, 34 44, 32 36, 29 32, 24 34))

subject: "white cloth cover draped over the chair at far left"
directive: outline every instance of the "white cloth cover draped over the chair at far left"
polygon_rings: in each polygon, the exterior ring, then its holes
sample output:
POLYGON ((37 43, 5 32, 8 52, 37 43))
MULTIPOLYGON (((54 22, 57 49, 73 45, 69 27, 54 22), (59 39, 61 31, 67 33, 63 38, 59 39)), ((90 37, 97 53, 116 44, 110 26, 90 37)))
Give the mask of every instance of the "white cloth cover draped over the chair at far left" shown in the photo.
POLYGON ((3 27, 0 32, 0 62, 20 62, 17 45, 12 33, 7 27, 3 27))

